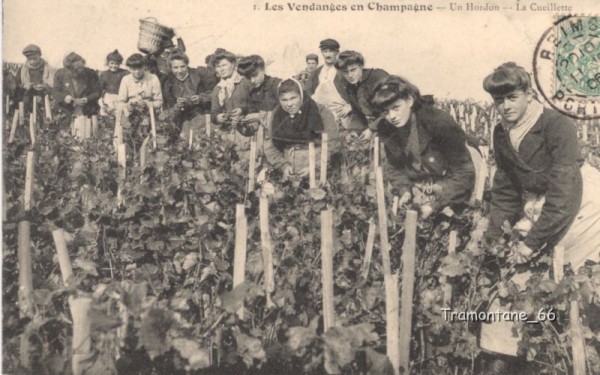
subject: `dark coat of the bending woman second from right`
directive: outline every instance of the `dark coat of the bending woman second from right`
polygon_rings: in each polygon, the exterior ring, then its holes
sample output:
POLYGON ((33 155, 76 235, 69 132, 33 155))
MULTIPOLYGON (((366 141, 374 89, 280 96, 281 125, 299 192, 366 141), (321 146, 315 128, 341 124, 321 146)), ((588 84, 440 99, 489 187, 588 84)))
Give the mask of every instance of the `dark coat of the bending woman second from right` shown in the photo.
MULTIPOLYGON (((409 120, 407 126, 412 126, 409 120)), ((473 190, 475 168, 466 146, 464 131, 452 117, 430 105, 422 105, 414 112, 417 127, 420 165, 407 152, 408 129, 396 128, 386 120, 379 122, 379 134, 384 145, 386 176, 398 195, 410 192, 415 183, 432 178, 442 185, 435 206, 466 203, 473 190)))

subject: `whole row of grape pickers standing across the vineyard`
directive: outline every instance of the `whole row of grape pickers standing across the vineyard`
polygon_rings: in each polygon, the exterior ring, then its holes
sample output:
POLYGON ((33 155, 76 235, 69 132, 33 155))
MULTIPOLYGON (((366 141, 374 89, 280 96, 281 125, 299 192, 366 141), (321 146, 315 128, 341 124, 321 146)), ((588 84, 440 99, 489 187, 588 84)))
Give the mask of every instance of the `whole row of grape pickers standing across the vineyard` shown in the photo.
MULTIPOLYGON (((151 110, 162 109, 161 118, 178 124, 182 137, 190 129, 201 131, 209 114, 209 125, 231 134, 242 148, 264 127, 262 151, 284 177, 307 173, 308 144, 318 147, 323 133, 329 140, 355 134, 359 142, 377 134, 385 150, 386 179, 401 205, 411 204, 417 195, 429 197, 421 202, 423 217, 465 207, 475 184, 478 152, 455 118, 432 105, 407 79, 367 68, 359 52, 340 52, 336 40, 321 41, 319 49, 323 65, 317 67, 319 56, 311 54, 306 71, 280 79, 266 74, 260 56, 239 58, 224 49, 208 56, 207 66, 192 68, 181 40, 178 46, 165 45, 154 59, 132 54, 125 60, 127 70, 115 50, 100 74, 76 53, 67 55, 64 67, 55 72, 41 58, 40 48, 29 45, 16 78, 27 108, 47 93, 74 116, 115 109, 126 114, 136 103, 147 102, 151 110)), ((482 79, 500 119, 493 131, 497 172, 488 242, 502 236, 506 221, 525 219, 529 226, 514 254, 518 263, 527 264, 555 246, 564 247, 565 262, 574 268, 586 260, 600 261, 600 194, 595 190, 600 177, 583 163, 573 121, 544 107, 529 74, 514 63, 504 63, 482 79)), ((590 306, 593 298, 598 296, 589 296, 590 306)), ((509 368, 518 373, 520 336, 512 336, 502 323, 483 326, 481 347, 488 358, 481 373, 509 368)))

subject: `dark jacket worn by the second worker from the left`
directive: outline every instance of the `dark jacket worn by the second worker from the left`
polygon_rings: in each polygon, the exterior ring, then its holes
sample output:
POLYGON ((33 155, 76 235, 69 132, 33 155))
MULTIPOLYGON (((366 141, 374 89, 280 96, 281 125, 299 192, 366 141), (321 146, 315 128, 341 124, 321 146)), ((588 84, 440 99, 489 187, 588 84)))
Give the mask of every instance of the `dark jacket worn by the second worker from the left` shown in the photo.
POLYGON ((75 77, 67 68, 59 69, 54 75, 54 88, 52 96, 60 106, 69 112, 74 110, 73 102, 65 103, 65 97, 71 95, 73 99, 87 98, 83 106, 83 114, 91 116, 98 113, 98 99, 102 89, 98 74, 92 69, 84 68, 79 77, 75 77))

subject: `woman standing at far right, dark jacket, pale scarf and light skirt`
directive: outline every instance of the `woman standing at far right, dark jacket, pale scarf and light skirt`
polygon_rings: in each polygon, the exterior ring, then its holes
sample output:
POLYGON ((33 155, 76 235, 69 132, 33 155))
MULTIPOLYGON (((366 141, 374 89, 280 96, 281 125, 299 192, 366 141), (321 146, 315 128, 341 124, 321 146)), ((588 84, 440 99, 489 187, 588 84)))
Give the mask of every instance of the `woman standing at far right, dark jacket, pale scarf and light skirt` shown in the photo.
MULTIPOLYGON (((501 117, 494 129, 498 169, 488 241, 497 240, 508 221, 525 237, 514 249, 516 263, 527 265, 536 254, 551 254, 555 245, 564 248, 564 261, 574 270, 588 259, 600 261, 600 172, 583 164, 573 122, 535 99, 529 74, 515 63, 498 67, 483 87, 501 117)), ((529 267, 524 268, 509 280, 521 291, 531 276, 529 267)), ((584 296, 584 306, 589 300, 584 296)), ((489 309, 509 308, 494 300, 489 309)), ((586 315, 591 320, 599 314, 588 310, 586 315)), ((513 327, 507 321, 482 325, 482 349, 501 354, 487 358, 482 374, 503 374, 524 365, 516 357, 521 336, 513 334, 513 327)))

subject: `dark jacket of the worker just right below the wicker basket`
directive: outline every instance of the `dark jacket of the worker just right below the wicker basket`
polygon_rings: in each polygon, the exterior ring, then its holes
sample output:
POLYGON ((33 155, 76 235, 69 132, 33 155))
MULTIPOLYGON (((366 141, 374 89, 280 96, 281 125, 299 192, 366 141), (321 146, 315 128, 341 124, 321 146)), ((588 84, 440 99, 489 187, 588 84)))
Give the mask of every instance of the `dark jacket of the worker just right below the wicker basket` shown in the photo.
MULTIPOLYGON (((200 96, 200 103, 193 106, 191 103, 184 107, 183 111, 178 111, 176 118, 187 119, 196 114, 210 113, 212 90, 219 81, 214 72, 205 67, 197 69, 189 68, 189 79, 194 90, 192 95, 200 96)), ((169 73, 162 83, 162 92, 165 108, 173 108, 177 104, 177 98, 190 97, 189 93, 180 92, 177 77, 169 73)))

